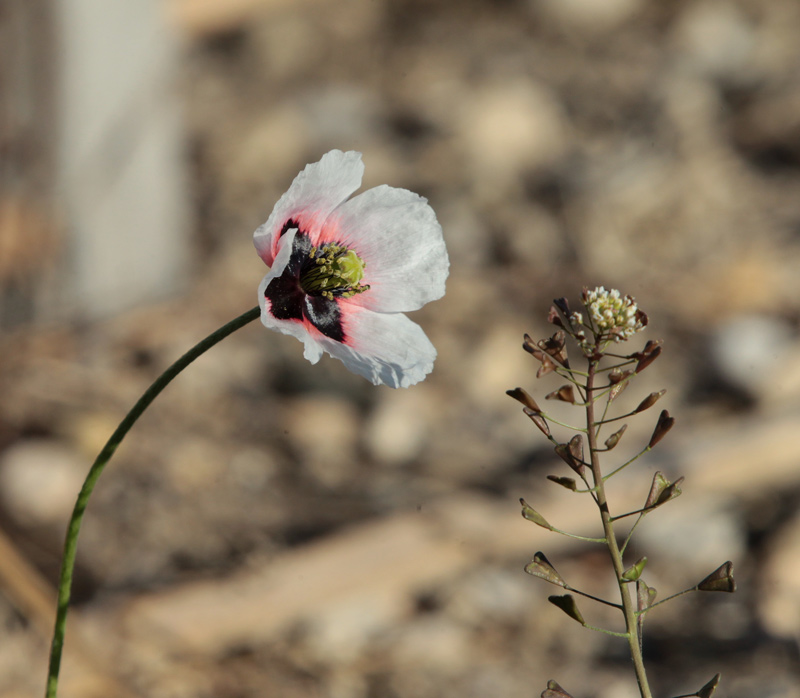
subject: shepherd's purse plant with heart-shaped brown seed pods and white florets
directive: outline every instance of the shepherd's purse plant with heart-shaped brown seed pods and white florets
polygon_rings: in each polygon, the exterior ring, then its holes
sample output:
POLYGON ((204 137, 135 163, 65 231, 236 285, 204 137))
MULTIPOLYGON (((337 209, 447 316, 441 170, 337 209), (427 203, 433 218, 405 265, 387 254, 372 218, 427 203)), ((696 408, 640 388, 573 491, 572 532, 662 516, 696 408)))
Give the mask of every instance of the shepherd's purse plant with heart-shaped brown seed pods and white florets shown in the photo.
MULTIPOLYGON (((627 423, 622 423, 622 420, 645 412, 664 395, 664 390, 650 393, 633 410, 614 415, 614 401, 659 357, 661 342, 650 340, 640 351, 627 354, 617 351, 621 343, 628 341, 646 327, 647 316, 638 309, 631 296, 622 296, 616 290, 606 291, 603 287, 593 291, 584 288, 581 301, 584 311, 570 310, 564 298, 555 300, 548 321, 558 330, 549 339, 538 342, 525 335, 522 346, 541 364, 536 374, 537 378, 555 373, 567 381, 565 385, 546 395, 546 399, 565 402, 581 410, 585 426, 568 426, 557 421, 542 410, 523 388, 514 388, 507 393, 522 403, 524 413, 550 441, 556 454, 577 475, 577 479, 555 475, 548 475, 547 479, 576 494, 588 495, 594 501, 600 514, 602 536, 587 538, 562 531, 548 523, 524 499, 521 499, 520 503, 522 516, 542 528, 570 538, 605 545, 619 587, 620 601, 617 603, 601 599, 570 586, 541 552, 536 553, 533 560, 525 567, 525 571, 567 592, 572 592, 550 596, 548 601, 583 627, 626 640, 639 692, 642 698, 652 698, 653 693, 647 680, 642 655, 645 616, 656 606, 692 591, 735 591, 733 565, 731 562, 725 562, 698 584, 656 601, 656 590, 648 586, 643 578, 647 558, 642 557, 631 563, 625 561, 625 552, 636 527, 645 516, 681 494, 680 486, 683 478, 670 482, 661 472, 656 472, 649 492, 646 495, 643 493, 642 507, 624 513, 613 511, 606 495, 606 483, 653 449, 673 427, 675 419, 669 412, 663 410, 656 420, 650 440, 636 455, 615 465, 601 463, 601 459, 605 461, 611 457, 608 454, 619 444, 627 429, 627 423), (571 366, 566 349, 568 339, 577 346, 585 362, 585 368, 582 366, 578 369, 571 366), (556 429, 574 432, 574 435, 567 440, 560 440, 554 435, 551 424, 556 425, 556 429), (611 433, 608 433, 609 431, 611 433), (632 524, 629 523, 631 521, 632 524), (618 609, 624 619, 625 632, 614 632, 589 625, 584 620, 573 594, 618 609)), ((710 698, 719 684, 719 679, 720 675, 717 674, 695 693, 677 698, 690 696, 710 698)), ((548 681, 542 698, 572 698, 572 696, 555 681, 548 681)))

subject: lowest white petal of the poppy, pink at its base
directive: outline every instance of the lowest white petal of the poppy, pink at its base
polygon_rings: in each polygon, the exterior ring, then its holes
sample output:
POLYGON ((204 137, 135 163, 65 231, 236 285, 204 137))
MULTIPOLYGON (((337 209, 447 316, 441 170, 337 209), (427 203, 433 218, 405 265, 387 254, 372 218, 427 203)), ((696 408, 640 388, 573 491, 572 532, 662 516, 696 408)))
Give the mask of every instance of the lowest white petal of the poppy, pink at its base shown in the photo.
POLYGON ((407 388, 431 370, 436 349, 415 322, 401 313, 374 313, 342 304, 347 343, 320 335, 323 349, 375 385, 407 388))

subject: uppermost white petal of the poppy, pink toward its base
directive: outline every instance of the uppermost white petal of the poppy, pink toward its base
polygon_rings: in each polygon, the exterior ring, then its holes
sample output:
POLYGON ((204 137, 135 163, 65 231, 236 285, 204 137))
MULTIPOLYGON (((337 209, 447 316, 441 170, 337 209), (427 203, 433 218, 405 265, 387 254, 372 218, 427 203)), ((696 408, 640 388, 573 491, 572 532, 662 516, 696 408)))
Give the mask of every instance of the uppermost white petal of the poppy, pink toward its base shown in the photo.
POLYGON ((259 257, 272 266, 281 228, 290 218, 302 222, 307 231, 321 227, 331 211, 361 186, 363 174, 361 153, 353 150, 331 150, 319 162, 306 165, 253 234, 259 257))

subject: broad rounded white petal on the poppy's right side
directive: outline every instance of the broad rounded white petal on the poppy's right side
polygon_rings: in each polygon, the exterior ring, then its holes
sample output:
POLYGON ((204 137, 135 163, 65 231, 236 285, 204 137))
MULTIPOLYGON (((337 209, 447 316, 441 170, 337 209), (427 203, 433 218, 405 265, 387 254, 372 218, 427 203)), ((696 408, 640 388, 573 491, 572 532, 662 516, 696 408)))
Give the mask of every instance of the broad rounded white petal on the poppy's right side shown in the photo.
POLYGON ((417 310, 444 295, 450 261, 442 227, 425 198, 382 185, 346 201, 326 231, 366 262, 370 290, 356 305, 381 312, 417 310))

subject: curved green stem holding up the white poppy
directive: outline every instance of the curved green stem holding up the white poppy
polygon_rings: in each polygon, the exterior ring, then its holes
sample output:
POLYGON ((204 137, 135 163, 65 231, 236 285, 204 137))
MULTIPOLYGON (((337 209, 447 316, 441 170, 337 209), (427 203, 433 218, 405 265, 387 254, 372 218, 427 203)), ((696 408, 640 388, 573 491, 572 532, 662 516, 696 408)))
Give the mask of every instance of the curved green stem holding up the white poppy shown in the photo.
POLYGON ((81 521, 83 514, 86 511, 86 505, 89 503, 89 497, 97 484, 97 480, 106 467, 106 464, 117 446, 120 445, 125 435, 130 431, 131 427, 136 423, 136 420, 142 416, 144 411, 150 406, 150 403, 158 397, 159 393, 167 387, 183 369, 191 364, 196 358, 207 352, 215 344, 221 342, 225 337, 236 332, 236 330, 244 327, 252 322, 261 314, 260 309, 256 306, 248 310, 243 315, 240 315, 235 320, 231 320, 227 325, 223 325, 215 332, 212 332, 204 340, 196 344, 189 351, 187 351, 180 359, 178 359, 172 366, 170 366, 164 373, 162 373, 155 382, 145 391, 144 395, 139 398, 139 401, 131 408, 131 411, 125 415, 125 419, 120 422, 116 431, 111 435, 103 450, 100 451, 92 467, 89 469, 89 474, 86 476, 86 481, 83 483, 78 499, 75 502, 75 508, 72 510, 72 517, 69 520, 67 527, 67 535, 64 541, 64 556, 61 561, 61 576, 58 582, 58 608, 56 611, 56 623, 53 631, 53 644, 50 648, 50 666, 47 674, 47 691, 46 698, 55 698, 58 692, 58 673, 61 668, 61 653, 64 649, 64 634, 67 625, 67 611, 69 610, 70 593, 72 590, 72 574, 75 569, 75 556, 78 550, 78 534, 80 533, 81 521))

